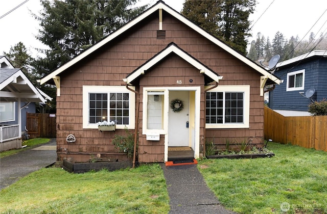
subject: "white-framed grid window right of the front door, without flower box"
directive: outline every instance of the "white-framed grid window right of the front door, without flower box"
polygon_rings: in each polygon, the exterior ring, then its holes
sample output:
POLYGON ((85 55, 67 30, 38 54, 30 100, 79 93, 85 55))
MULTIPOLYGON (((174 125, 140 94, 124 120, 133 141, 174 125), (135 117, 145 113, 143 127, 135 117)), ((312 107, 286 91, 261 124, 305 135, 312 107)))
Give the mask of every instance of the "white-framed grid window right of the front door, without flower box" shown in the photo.
POLYGON ((206 93, 206 128, 248 127, 249 86, 220 86, 206 93))

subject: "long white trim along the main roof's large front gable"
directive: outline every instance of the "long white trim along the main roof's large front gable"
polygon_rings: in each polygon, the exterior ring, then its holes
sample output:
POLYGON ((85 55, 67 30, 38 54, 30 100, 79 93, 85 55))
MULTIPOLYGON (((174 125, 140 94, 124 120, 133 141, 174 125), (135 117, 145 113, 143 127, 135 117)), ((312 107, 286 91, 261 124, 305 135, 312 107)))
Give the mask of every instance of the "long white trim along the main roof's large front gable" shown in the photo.
POLYGON ((158 1, 155 5, 153 5, 152 7, 150 7, 146 11, 144 11, 142 14, 140 14, 137 17, 135 17, 134 19, 132 19, 131 21, 127 22, 125 25, 123 25, 118 30, 114 31, 113 33, 111 33, 107 37, 105 37, 104 39, 100 40, 96 44, 94 44, 91 47, 89 47, 88 49, 84 50, 82 53, 77 55, 72 60, 70 60, 67 63, 63 64, 62 66, 58 67, 56 70, 54 70, 49 75, 46 75, 45 77, 41 78, 39 80, 40 84, 42 85, 42 84, 50 81, 52 78, 55 78, 57 75, 59 75, 61 72, 63 72, 67 68, 69 68, 69 67, 73 66, 74 64, 80 62, 82 59, 84 59, 85 57, 90 55, 92 52, 95 52, 97 49, 104 46, 105 44, 107 44, 108 42, 113 40, 114 38, 120 36, 125 31, 132 28, 132 26, 134 26, 138 22, 141 22, 142 20, 147 18, 152 13, 158 11, 159 9, 162 9, 162 10, 166 11, 167 13, 174 16, 176 19, 178 19, 182 23, 188 25, 191 29, 195 30, 196 32, 201 34, 203 37, 207 38, 208 40, 212 41, 214 44, 216 44, 219 47, 223 48, 225 51, 229 52, 231 55, 235 56, 236 58, 238 58, 239 60, 241 60, 242 62, 244 62, 245 64, 247 64, 251 68, 253 68, 254 70, 256 70, 259 73, 261 73, 262 75, 267 76, 268 78, 270 78, 274 83, 276 83, 276 84, 281 83, 281 80, 278 77, 272 75, 270 72, 266 71, 264 68, 262 68, 259 65, 255 64, 253 61, 249 60, 248 58, 243 56, 238 51, 232 49, 230 46, 226 45, 225 43, 223 43, 222 41, 220 41, 219 39, 217 39, 213 35, 207 33, 205 30, 200 28, 200 26, 194 24, 191 20, 189 20, 188 18, 184 17, 183 15, 181 15, 180 13, 178 13, 177 11, 172 9, 171 7, 166 5, 164 2, 158 1))

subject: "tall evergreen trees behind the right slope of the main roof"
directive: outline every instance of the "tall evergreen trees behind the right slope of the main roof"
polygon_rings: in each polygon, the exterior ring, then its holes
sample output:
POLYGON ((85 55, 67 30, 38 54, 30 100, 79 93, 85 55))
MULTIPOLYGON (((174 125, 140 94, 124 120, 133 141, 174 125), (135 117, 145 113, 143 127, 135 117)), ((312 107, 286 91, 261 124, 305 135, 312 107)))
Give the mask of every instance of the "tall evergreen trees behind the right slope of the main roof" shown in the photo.
POLYGON ((245 54, 254 6, 255 0, 185 1, 182 14, 245 54))

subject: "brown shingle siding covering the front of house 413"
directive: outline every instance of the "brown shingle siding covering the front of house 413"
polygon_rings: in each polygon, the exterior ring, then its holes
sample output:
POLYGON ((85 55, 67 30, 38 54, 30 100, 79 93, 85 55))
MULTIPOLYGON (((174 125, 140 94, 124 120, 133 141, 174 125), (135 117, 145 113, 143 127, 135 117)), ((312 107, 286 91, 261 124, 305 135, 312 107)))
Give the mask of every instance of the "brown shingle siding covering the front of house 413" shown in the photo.
MULTIPOLYGON (((82 87, 124 86, 123 78, 171 42, 223 76, 219 85, 250 85, 250 127, 207 129, 206 139, 214 139, 215 143, 223 146, 226 139, 252 138, 252 143, 262 145, 264 97, 260 96, 260 73, 165 11, 163 11, 162 30, 166 31, 166 38, 157 39, 158 19, 158 13, 150 15, 119 38, 113 39, 61 74, 61 95, 57 97, 57 148, 60 160, 70 158, 75 162, 84 162, 90 158, 91 153, 102 153, 102 157, 110 159, 126 159, 126 155, 118 154, 111 142, 114 135, 125 135, 125 130, 100 132, 97 129, 82 128, 82 87), (66 142, 66 137, 70 133, 77 139, 74 144, 66 142), (66 148, 68 152, 59 148, 66 148)), ((200 148, 203 147, 204 75, 199 73, 199 70, 172 53, 136 79, 134 85, 140 93, 141 100, 138 123, 139 162, 164 162, 165 152, 164 136, 161 135, 159 142, 152 142, 147 141, 146 136, 142 135, 143 87, 200 86, 200 144, 202 145, 200 148), (192 83, 189 82, 191 78, 192 83), (177 86, 177 79, 182 79, 183 84, 177 86)))

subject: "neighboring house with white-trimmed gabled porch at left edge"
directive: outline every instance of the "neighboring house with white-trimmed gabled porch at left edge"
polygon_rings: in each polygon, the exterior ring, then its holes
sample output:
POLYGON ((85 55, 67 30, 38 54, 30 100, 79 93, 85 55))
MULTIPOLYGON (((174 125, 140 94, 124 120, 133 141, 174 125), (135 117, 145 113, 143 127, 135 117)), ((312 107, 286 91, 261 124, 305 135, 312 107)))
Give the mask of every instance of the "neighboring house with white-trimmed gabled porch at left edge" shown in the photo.
POLYGON ((0 56, 0 65, 0 151, 4 151, 21 148, 21 109, 26 106, 20 107, 21 103, 45 103, 52 98, 36 88, 5 56, 0 56))

